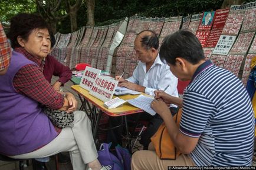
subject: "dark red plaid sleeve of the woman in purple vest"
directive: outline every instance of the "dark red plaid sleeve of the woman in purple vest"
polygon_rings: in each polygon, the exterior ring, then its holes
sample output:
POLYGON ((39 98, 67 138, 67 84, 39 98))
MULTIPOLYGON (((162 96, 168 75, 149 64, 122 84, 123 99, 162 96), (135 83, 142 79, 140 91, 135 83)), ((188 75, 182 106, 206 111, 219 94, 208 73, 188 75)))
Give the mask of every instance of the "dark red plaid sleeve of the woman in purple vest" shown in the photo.
POLYGON ((23 66, 14 76, 12 83, 18 93, 27 95, 49 108, 59 109, 64 104, 63 96, 52 88, 38 66, 23 66))

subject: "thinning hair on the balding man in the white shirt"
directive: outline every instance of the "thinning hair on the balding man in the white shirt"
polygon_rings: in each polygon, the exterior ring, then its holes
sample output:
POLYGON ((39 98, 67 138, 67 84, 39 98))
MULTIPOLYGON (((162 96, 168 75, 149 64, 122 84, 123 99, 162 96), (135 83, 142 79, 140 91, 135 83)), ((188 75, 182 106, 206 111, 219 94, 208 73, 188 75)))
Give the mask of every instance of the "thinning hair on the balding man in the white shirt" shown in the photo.
POLYGON ((156 33, 151 30, 144 30, 142 32, 139 32, 139 34, 137 34, 137 36, 142 34, 143 32, 148 32, 149 34, 142 36, 142 39, 140 41, 142 43, 142 46, 144 48, 146 48, 147 50, 150 48, 158 49, 159 48, 159 39, 158 39, 156 33))

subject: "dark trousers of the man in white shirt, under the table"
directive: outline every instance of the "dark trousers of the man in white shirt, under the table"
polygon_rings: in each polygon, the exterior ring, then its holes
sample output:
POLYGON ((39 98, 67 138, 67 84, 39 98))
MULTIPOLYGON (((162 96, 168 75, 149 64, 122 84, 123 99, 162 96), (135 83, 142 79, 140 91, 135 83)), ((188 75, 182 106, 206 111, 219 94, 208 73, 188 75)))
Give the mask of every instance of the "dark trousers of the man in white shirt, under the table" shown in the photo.
MULTIPOLYGON (((177 108, 170 108, 172 115, 178 112, 177 108)), ((147 129, 142 133, 142 138, 140 139, 140 144, 143 145, 143 149, 147 149, 150 143, 150 138, 155 134, 159 126, 163 123, 163 119, 158 115, 150 115, 147 112, 142 112, 140 114, 127 115, 128 126, 132 129, 136 128, 137 121, 148 121, 147 129)), ((112 142, 112 147, 117 144, 122 145, 122 134, 124 127, 123 116, 109 117, 109 127, 117 128, 111 129, 107 132, 107 142, 112 142)))

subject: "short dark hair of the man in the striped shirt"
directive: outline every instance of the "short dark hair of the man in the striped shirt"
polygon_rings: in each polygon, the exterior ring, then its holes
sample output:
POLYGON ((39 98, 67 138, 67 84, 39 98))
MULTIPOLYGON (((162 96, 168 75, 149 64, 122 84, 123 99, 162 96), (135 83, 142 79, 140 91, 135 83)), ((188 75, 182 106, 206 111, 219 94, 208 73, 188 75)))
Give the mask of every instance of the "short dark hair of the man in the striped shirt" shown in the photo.
POLYGON ((160 47, 159 56, 169 64, 175 65, 177 57, 186 59, 191 64, 198 64, 205 59, 202 45, 198 38, 186 30, 177 31, 165 37, 160 47))

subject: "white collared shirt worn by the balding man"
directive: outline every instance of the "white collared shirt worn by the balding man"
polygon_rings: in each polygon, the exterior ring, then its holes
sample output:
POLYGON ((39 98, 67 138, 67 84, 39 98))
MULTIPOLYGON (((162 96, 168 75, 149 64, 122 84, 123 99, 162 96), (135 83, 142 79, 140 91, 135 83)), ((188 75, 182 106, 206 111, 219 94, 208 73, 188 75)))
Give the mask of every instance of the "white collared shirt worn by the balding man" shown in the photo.
MULTIPOLYGON (((139 61, 139 64, 133 71, 133 76, 127 78, 127 81, 134 84, 145 86, 145 94, 154 96, 155 90, 164 90, 169 95, 178 97, 178 78, 170 72, 169 65, 160 60, 157 55, 155 62, 146 72, 146 63, 139 61)), ((176 107, 176 105, 171 105, 176 107)))

